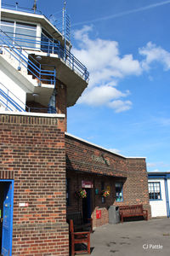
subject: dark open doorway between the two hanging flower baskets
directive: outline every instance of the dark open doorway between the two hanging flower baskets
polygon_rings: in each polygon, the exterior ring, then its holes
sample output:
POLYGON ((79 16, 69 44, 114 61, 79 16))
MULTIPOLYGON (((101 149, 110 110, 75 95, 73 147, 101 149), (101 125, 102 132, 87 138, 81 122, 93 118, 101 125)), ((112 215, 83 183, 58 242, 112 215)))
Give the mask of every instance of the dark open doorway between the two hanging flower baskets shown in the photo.
POLYGON ((91 189, 86 189, 87 197, 82 199, 82 218, 83 222, 87 222, 91 218, 91 189))

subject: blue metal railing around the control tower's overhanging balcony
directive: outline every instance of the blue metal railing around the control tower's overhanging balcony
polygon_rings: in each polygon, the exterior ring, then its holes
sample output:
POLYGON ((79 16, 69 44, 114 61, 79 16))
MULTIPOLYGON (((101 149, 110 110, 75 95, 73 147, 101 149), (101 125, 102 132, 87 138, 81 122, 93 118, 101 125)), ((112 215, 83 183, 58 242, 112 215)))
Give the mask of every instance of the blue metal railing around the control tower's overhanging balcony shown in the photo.
POLYGON ((57 54, 59 55, 59 58, 65 61, 66 64, 71 67, 72 70, 79 73, 82 78, 88 82, 89 79, 89 73, 87 67, 85 67, 80 61, 77 60, 77 58, 71 54, 71 51, 64 48, 60 43, 54 43, 52 40, 47 38, 46 41, 42 41, 41 38, 36 38, 29 35, 19 34, 19 33, 11 33, 6 32, 6 37, 4 36, 4 39, 8 39, 8 35, 10 35, 9 38, 11 38, 11 46, 14 44, 19 45, 22 48, 29 48, 29 49, 37 49, 41 50, 43 52, 46 52, 49 54, 57 54))

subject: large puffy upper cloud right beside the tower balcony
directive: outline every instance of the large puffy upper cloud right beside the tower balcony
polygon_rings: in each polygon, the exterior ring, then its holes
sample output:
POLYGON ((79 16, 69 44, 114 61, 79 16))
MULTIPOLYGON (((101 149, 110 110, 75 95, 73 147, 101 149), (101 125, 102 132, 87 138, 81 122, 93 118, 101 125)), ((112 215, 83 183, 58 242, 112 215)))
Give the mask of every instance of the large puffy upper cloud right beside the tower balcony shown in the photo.
POLYGON ((73 49, 77 58, 88 67, 89 87, 111 82, 112 79, 121 79, 126 75, 139 75, 142 72, 139 61, 133 60, 133 55, 120 56, 116 41, 90 39, 88 33, 92 30, 92 26, 84 26, 82 30, 75 32, 79 49, 73 49))

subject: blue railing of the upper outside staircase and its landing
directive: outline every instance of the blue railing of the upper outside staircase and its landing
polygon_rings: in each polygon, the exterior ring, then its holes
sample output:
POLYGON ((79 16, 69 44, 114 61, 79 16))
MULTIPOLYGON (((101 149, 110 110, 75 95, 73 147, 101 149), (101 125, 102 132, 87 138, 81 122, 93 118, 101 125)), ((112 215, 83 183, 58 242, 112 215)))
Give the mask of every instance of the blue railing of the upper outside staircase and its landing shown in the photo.
POLYGON ((26 50, 24 50, 20 44, 17 44, 13 38, 10 38, 8 34, 3 32, 1 29, 0 44, 10 55, 14 57, 15 60, 19 61, 19 70, 22 65, 33 75, 33 78, 38 79, 39 83, 55 84, 55 67, 52 65, 40 64, 31 55, 28 57, 26 50))

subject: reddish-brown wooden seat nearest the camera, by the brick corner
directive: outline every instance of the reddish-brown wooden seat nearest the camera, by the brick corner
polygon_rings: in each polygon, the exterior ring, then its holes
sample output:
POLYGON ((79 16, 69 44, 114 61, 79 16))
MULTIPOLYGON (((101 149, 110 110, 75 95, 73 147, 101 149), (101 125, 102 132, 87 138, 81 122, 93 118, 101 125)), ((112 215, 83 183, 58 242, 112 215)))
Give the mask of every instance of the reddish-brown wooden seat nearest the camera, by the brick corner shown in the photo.
POLYGON ((73 220, 70 220, 70 233, 71 233, 71 256, 74 256, 75 253, 88 253, 90 254, 90 232, 75 232, 73 220), (87 248, 84 250, 75 250, 76 244, 86 244, 87 248))

